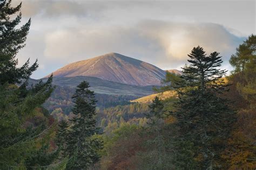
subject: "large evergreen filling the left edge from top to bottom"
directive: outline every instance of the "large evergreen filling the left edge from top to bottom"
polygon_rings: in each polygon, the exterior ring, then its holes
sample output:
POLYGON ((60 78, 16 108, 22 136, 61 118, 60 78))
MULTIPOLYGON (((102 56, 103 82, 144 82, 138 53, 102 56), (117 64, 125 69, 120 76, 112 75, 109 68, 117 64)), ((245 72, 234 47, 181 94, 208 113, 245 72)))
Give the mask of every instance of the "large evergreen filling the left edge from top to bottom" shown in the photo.
MULTIPOLYGON (((21 22, 21 13, 15 19, 10 19, 20 9, 21 4, 12 8, 11 1, 0 1, 1 169, 26 167, 30 158, 35 158, 35 153, 46 146, 49 140, 43 136, 48 136, 54 127, 49 120, 38 121, 39 125, 31 121, 38 114, 36 108, 41 107, 53 90, 52 76, 45 83, 39 81, 35 86, 28 87, 29 77, 38 67, 37 61, 29 67, 28 60, 17 68, 18 60, 15 57, 19 49, 25 46, 30 26, 29 20, 16 29, 21 22)), ((42 164, 42 161, 39 162, 42 164)))

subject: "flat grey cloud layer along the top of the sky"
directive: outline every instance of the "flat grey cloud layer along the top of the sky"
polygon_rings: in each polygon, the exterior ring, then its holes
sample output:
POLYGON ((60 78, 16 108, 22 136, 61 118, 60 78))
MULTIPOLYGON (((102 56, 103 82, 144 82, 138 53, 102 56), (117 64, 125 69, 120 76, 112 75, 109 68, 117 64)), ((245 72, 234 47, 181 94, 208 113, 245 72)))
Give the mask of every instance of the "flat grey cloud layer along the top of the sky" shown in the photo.
POLYGON ((109 24, 134 24, 143 19, 212 22, 234 29, 236 34, 255 33, 255 1, 25 0, 22 12, 25 17, 77 16, 109 24))

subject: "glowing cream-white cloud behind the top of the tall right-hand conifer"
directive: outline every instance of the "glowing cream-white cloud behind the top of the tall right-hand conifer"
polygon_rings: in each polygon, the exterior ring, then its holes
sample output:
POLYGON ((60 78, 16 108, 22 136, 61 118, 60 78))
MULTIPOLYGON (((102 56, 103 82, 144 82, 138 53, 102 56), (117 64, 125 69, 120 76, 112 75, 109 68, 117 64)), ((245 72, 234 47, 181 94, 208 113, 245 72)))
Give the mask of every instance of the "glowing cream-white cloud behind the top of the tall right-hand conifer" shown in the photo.
POLYGON ((159 42, 171 60, 184 60, 195 46, 207 52, 233 52, 242 38, 213 23, 173 23, 150 20, 140 24, 144 34, 159 42))

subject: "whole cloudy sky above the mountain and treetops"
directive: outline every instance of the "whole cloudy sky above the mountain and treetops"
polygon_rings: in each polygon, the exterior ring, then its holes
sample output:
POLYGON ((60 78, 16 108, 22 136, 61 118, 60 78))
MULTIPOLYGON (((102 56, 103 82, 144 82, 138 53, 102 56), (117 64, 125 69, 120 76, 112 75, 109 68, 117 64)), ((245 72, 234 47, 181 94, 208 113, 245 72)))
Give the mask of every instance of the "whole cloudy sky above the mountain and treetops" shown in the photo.
POLYGON ((32 78, 40 79, 68 63, 116 52, 180 69, 199 45, 207 54, 219 52, 231 70, 235 48, 255 34, 255 2, 23 0, 21 24, 32 23, 18 66, 38 59, 32 78))

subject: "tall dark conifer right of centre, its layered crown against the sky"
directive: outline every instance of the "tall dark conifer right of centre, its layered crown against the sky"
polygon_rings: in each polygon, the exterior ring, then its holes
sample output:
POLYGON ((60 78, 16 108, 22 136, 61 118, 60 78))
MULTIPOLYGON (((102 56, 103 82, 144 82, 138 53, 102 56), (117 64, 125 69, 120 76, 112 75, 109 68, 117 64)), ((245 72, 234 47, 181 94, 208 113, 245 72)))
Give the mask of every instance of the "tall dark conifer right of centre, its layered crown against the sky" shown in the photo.
POLYGON ((226 71, 219 69, 223 61, 217 52, 206 56, 198 46, 188 56, 190 65, 183 68, 182 80, 174 87, 179 94, 177 111, 170 112, 177 119, 173 124, 178 131, 176 166, 221 168, 220 153, 235 120, 228 101, 220 97, 227 87, 221 80, 226 71))

